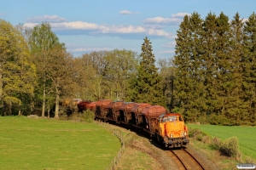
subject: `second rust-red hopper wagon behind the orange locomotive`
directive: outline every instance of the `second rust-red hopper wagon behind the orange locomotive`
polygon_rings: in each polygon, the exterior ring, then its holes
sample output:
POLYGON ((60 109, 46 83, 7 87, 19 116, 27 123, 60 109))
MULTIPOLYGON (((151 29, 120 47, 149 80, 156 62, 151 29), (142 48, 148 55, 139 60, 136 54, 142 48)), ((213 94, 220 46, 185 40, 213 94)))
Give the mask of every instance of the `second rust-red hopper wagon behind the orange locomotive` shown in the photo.
POLYGON ((143 124, 143 115, 142 111, 145 107, 149 106, 147 103, 139 103, 133 105, 131 108, 131 123, 134 127, 140 127, 143 124))

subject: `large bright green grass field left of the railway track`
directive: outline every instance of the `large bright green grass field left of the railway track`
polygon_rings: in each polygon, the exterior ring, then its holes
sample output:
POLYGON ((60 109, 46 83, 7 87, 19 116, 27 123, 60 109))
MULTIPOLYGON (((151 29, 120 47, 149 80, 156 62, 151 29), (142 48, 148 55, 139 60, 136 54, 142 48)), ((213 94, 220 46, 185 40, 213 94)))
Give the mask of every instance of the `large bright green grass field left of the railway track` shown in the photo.
POLYGON ((106 169, 119 148, 95 123, 0 116, 0 169, 106 169))

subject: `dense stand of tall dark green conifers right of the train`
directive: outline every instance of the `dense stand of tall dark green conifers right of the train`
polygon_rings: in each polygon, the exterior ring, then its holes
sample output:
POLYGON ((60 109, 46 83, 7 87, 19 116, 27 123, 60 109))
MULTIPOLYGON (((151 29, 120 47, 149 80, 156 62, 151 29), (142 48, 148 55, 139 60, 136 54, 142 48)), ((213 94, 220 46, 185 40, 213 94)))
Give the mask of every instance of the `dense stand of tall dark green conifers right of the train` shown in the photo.
POLYGON ((185 16, 176 42, 174 83, 186 120, 256 125, 256 14, 185 16))

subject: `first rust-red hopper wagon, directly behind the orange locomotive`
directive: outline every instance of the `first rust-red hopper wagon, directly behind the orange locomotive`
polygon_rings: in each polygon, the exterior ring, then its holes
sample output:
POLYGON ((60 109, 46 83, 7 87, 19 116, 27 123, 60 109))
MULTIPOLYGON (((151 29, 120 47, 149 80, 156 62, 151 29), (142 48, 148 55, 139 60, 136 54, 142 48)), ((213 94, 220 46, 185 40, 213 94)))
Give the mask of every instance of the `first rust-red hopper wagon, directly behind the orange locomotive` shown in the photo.
POLYGON ((148 131, 150 134, 154 134, 154 122, 162 114, 166 114, 166 108, 161 105, 151 105, 143 109, 143 130, 148 131))

